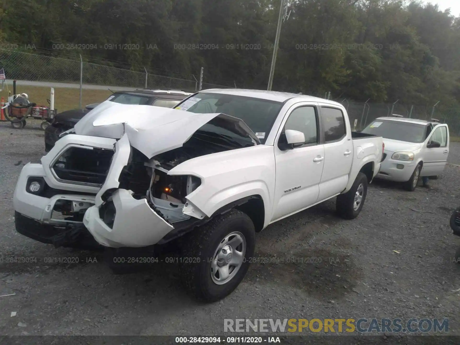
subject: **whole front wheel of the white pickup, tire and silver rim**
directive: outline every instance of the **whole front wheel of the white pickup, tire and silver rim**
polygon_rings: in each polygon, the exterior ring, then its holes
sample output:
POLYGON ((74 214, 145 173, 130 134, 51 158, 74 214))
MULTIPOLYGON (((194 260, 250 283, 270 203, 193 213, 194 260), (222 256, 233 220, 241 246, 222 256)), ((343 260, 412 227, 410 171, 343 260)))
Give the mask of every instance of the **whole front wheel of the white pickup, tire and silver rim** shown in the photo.
POLYGON ((185 287, 206 302, 223 299, 236 289, 249 268, 255 249, 253 222, 233 209, 187 236, 179 265, 185 287))

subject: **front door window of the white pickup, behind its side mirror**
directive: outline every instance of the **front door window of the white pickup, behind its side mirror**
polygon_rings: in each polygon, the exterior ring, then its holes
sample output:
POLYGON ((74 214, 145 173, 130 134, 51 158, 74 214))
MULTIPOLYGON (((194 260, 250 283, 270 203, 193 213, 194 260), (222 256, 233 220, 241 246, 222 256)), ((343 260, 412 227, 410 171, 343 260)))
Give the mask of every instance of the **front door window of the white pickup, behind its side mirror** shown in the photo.
POLYGON ((284 130, 292 129, 305 134, 305 144, 318 142, 318 126, 315 107, 306 106, 294 109, 288 117, 284 130))

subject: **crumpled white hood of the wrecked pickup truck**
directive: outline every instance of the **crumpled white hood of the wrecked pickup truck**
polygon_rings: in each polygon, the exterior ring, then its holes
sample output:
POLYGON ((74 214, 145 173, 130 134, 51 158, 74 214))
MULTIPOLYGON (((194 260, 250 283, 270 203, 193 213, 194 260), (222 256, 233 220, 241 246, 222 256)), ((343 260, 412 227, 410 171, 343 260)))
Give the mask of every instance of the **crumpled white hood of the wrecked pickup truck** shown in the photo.
POLYGON ((244 121, 225 114, 196 114, 151 105, 105 101, 76 125, 75 134, 119 139, 127 133, 132 147, 147 158, 181 147, 200 127, 219 117, 219 127, 231 129, 260 144, 244 121))

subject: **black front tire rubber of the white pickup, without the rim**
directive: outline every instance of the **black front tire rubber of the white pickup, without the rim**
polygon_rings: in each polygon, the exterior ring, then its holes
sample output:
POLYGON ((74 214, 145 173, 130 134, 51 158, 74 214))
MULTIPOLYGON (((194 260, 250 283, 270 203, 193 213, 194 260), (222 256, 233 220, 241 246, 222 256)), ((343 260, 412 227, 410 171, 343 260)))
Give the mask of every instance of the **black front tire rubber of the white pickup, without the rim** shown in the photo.
POLYGON ((196 299, 215 302, 228 296, 243 280, 249 268, 249 258, 255 249, 254 224, 247 214, 231 210, 217 216, 201 228, 191 231, 184 238, 179 272, 185 288, 196 299), (225 238, 238 231, 246 240, 244 260, 235 276, 228 282, 218 285, 211 277, 211 261, 225 238))

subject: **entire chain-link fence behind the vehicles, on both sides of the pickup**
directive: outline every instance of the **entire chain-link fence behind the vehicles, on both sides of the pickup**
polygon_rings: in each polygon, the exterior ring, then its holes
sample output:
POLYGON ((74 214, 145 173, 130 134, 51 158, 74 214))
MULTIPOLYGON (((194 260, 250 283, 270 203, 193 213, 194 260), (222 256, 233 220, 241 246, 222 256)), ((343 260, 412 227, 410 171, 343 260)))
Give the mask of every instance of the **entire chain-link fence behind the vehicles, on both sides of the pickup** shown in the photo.
MULTIPOLYGON (((0 49, 0 67, 4 68, 7 79, 20 81, 42 81, 60 83, 82 83, 97 86, 118 86, 150 89, 176 89, 188 92, 198 91, 200 82, 195 79, 181 79, 164 75, 121 69, 96 63, 81 62, 61 57, 50 57, 22 51, 0 49)), ((236 84, 222 85, 201 83, 201 89, 236 88, 236 84)), ((242 86, 240 86, 242 87, 242 86)), ((330 98, 330 93, 316 95, 330 98)), ((391 114, 403 115, 420 120, 436 118, 447 123, 452 136, 460 140, 460 109, 444 108, 442 105, 408 105, 395 103, 355 102, 349 99, 335 99, 344 105, 350 117, 351 126, 362 130, 377 117, 391 114)))

